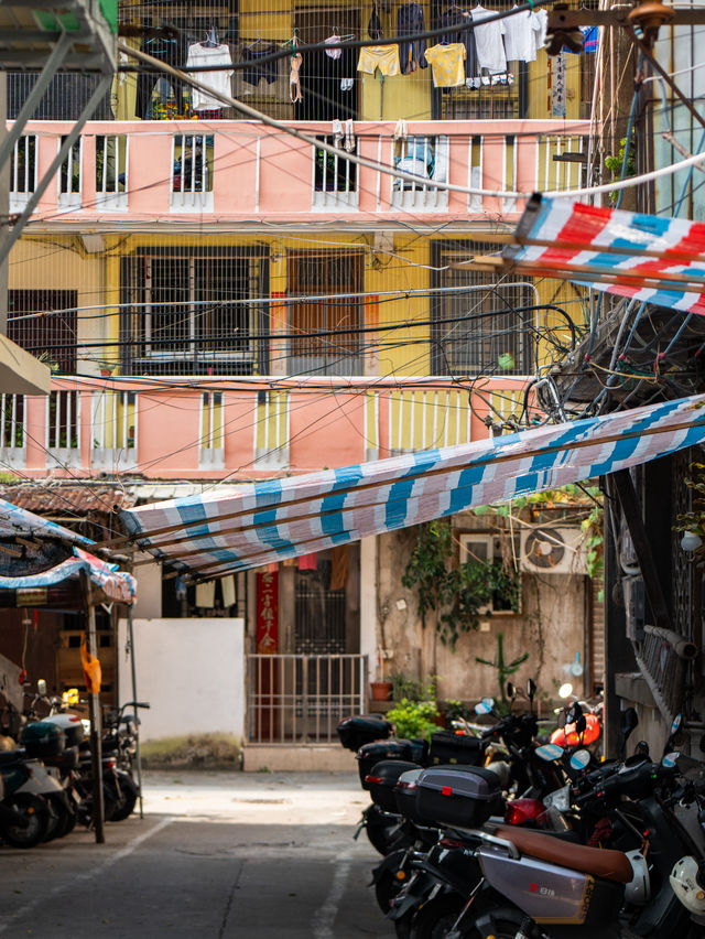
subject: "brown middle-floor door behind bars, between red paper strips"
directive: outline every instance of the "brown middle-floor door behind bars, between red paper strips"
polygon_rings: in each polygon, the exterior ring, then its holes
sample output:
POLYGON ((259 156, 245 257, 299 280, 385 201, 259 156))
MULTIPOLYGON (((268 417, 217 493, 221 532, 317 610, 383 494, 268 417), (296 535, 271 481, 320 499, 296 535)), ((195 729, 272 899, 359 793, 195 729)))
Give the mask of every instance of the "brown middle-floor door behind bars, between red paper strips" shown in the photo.
POLYGON ((301 334, 290 339, 291 374, 359 371, 361 344, 356 331, 364 321, 364 271, 361 251, 290 252, 289 294, 306 298, 289 304, 289 332, 301 334))

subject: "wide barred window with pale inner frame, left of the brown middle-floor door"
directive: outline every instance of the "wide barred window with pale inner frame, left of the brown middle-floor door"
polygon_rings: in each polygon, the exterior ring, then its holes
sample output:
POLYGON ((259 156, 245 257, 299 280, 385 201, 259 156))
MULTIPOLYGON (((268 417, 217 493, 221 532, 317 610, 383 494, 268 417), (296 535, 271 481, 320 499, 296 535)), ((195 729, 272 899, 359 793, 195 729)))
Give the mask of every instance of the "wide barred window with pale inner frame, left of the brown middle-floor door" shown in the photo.
POLYGON ((122 367, 132 375, 269 370, 269 249, 149 248, 122 258, 122 367))

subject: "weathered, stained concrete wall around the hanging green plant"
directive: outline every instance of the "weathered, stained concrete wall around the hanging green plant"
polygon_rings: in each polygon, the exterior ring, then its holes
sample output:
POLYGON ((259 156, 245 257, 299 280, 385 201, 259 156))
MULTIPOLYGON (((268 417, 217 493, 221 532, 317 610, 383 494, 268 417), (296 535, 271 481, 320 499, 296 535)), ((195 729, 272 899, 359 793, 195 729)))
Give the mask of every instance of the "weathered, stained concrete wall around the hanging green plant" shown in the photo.
MULTIPOLYGON (((459 517, 454 516, 453 521, 454 526, 458 525, 459 517)), ((473 524, 487 525, 469 515, 463 516, 463 528, 473 524)), ((487 617, 481 620, 481 630, 462 634, 453 650, 438 638, 433 613, 427 615, 425 628, 421 626, 415 592, 401 585, 415 541, 415 528, 378 539, 377 645, 391 655, 387 661, 388 674, 400 671, 411 677, 436 674, 441 699, 467 701, 486 694, 497 697, 497 672, 476 662, 476 657, 494 660, 497 634, 501 633, 506 661, 529 651, 529 659, 512 676, 516 684, 523 687, 532 677, 539 684, 539 694, 554 699, 558 687, 571 681, 576 693, 584 693, 583 678, 572 676, 570 666, 578 651, 584 661, 585 576, 523 574, 520 614, 496 613, 487 617)), ((369 618, 362 624, 362 634, 367 633, 369 618)), ((368 637, 368 648, 370 645, 368 637)), ((372 672, 373 663, 370 665, 372 672)))

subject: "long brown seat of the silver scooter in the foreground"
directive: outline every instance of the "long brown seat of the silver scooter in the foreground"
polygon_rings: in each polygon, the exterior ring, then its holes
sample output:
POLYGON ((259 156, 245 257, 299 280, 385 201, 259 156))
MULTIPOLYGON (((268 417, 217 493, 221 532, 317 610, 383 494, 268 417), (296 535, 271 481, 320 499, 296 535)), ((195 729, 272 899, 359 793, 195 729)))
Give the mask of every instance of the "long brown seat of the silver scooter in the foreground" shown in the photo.
POLYGON ((506 824, 498 824, 492 834, 511 841, 522 854, 530 854, 550 864, 560 864, 571 871, 593 874, 595 877, 604 877, 606 881, 616 881, 619 884, 628 884, 633 877, 631 863, 621 851, 586 848, 584 844, 552 838, 535 829, 506 824))

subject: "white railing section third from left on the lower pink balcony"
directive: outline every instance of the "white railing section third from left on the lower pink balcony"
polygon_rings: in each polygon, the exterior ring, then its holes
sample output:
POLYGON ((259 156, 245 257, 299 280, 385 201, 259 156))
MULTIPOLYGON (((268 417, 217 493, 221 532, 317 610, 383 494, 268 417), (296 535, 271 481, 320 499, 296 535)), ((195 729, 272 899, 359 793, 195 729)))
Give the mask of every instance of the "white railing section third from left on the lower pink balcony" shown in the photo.
POLYGON ((94 391, 90 406, 90 462, 116 472, 137 466, 138 407, 134 391, 94 391))

